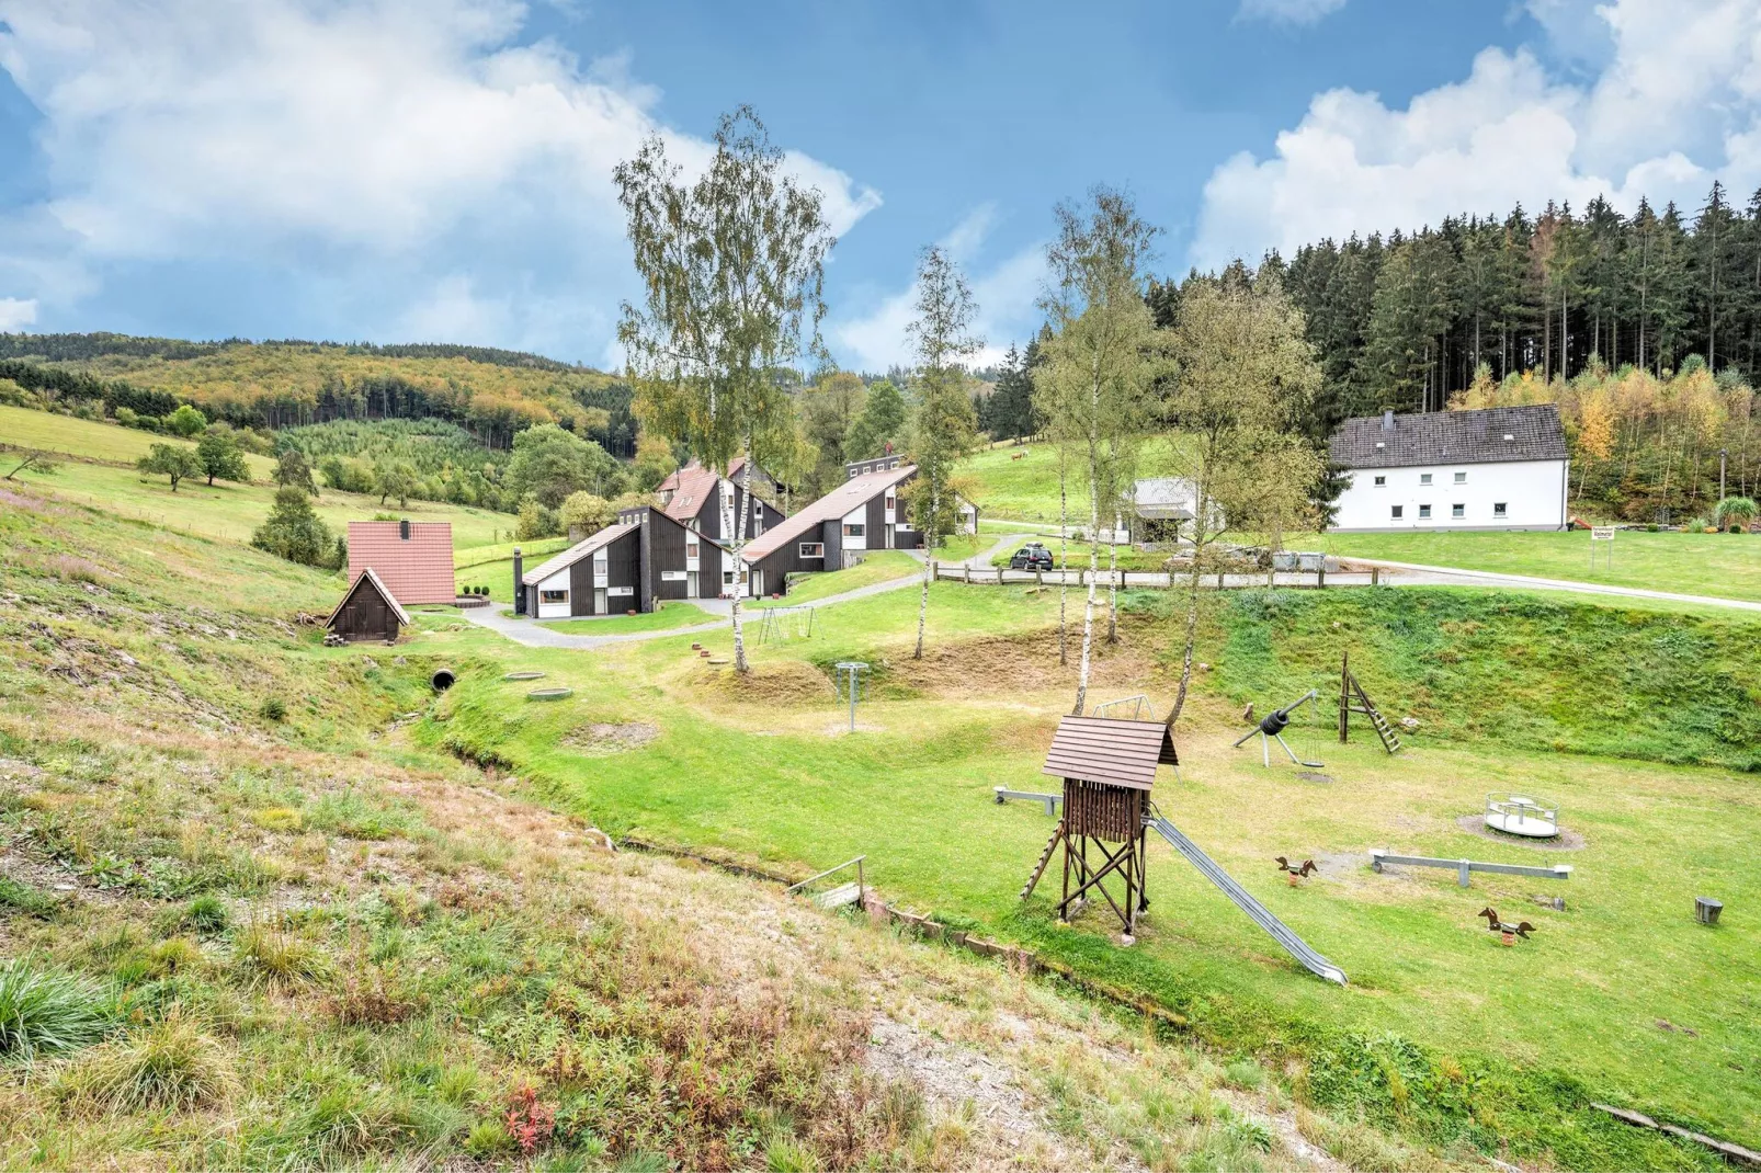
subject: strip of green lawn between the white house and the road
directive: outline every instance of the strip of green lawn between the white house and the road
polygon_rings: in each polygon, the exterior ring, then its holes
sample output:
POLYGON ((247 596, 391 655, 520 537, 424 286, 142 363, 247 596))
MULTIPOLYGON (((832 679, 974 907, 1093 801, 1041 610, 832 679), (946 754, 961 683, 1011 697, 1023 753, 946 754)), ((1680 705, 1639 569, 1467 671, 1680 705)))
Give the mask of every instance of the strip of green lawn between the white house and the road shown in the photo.
MULTIPOLYGON (((1293 546, 1298 542, 1291 542, 1293 546)), ((1534 574, 1580 583, 1639 586, 1682 595, 1761 601, 1761 535, 1620 530, 1613 569, 1590 569, 1587 530, 1462 534, 1324 534, 1303 548, 1359 558, 1534 574)), ((1604 551, 1597 551, 1597 558, 1604 551)))

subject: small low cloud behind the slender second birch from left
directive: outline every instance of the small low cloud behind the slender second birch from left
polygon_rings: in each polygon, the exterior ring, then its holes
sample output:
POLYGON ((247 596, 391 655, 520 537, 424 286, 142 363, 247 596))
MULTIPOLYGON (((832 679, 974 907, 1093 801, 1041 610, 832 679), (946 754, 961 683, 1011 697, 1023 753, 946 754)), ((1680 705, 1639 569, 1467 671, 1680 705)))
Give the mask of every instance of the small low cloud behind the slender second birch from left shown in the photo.
MULTIPOLYGON (((977 306, 972 333, 984 345, 972 358, 972 366, 1002 363, 1011 342, 1021 342, 1034 329, 1034 303, 1046 280, 1046 252, 1043 243, 988 268, 974 266, 986 238, 997 224, 997 206, 979 204, 937 241, 960 262, 977 306)), ((877 298, 866 312, 833 319, 826 338, 852 370, 880 372, 888 366, 909 366, 912 361, 907 326, 916 317, 917 289, 907 284, 877 298)))

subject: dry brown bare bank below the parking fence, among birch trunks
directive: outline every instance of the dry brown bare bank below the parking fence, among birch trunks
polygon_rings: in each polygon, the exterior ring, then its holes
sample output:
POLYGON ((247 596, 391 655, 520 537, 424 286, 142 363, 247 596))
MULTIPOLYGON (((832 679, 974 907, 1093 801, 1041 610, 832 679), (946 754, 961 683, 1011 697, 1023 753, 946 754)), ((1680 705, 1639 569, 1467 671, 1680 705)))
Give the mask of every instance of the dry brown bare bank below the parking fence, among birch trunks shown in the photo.
MULTIPOLYGON (((923 659, 909 653, 888 657, 888 683, 940 696, 977 696, 990 692, 1037 692, 1076 682, 1081 655, 1081 625, 1071 632, 1069 664, 1058 664, 1058 631, 984 636, 925 648, 923 659)), ((1090 689, 1143 690, 1155 662, 1132 639, 1131 625, 1120 623, 1120 641, 1106 643, 1106 616, 1095 615, 1090 689)), ((1106 696, 1097 696, 1104 701, 1106 696)))

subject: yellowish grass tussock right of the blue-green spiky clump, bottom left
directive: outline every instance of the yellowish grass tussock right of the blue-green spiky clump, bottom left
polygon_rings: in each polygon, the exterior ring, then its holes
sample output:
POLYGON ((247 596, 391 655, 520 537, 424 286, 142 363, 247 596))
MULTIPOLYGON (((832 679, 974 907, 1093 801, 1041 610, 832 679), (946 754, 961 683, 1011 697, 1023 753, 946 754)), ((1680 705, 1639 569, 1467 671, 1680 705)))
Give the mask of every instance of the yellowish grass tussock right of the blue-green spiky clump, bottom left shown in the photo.
POLYGON ((113 1111, 195 1108, 225 1099, 232 1066, 220 1043, 181 1013, 95 1048, 58 1081, 72 1099, 113 1111))

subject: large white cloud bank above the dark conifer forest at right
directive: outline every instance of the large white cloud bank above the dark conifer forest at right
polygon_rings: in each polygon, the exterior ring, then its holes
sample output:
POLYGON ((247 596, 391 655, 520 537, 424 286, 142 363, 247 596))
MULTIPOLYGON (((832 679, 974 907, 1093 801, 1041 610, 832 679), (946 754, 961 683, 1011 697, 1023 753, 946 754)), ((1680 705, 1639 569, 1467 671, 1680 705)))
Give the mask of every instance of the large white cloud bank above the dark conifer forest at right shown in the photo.
POLYGON ((1490 48, 1465 79, 1405 109, 1319 93, 1271 157, 1240 153, 1212 173, 1190 261, 1289 255, 1323 236, 1502 215, 1518 201, 1698 206, 1715 176, 1738 192, 1761 180, 1761 0, 1618 0, 1594 9, 1595 30, 1587 5, 1536 7, 1580 56, 1606 35, 1590 81, 1550 76, 1529 49, 1490 48))

